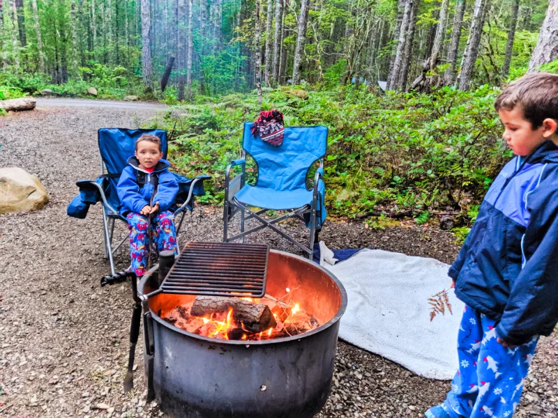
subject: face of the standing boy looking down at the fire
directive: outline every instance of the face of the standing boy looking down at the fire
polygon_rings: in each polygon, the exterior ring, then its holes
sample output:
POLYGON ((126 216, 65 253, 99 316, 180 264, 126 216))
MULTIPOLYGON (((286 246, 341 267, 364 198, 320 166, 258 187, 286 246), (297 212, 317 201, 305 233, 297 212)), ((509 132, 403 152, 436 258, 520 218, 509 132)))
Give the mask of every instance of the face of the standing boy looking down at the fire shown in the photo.
POLYGON ((545 119, 543 125, 534 130, 519 106, 512 110, 500 109, 498 114, 505 128, 502 137, 515 155, 529 155, 544 141, 556 137, 554 119, 545 119))

